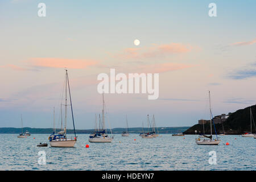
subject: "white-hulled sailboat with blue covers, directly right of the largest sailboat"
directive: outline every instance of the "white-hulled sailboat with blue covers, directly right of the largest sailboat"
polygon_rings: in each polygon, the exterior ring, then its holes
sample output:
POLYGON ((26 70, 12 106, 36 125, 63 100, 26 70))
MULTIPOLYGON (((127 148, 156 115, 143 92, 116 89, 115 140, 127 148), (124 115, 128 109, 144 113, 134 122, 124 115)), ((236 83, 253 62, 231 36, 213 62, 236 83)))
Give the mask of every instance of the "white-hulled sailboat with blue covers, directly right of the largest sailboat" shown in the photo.
MULTIPOLYGON (((102 109, 102 129, 100 130, 100 128, 98 129, 98 131, 94 131, 93 134, 90 134, 89 136, 89 142, 92 143, 110 143, 113 140, 113 135, 112 137, 108 136, 108 133, 106 133, 106 129, 105 129, 105 115, 104 115, 104 106, 105 106, 105 102, 104 102, 104 93, 102 93, 102 105, 103 105, 103 109, 102 109)), ((101 122, 100 122, 101 123, 101 122)), ((111 133, 112 130, 110 129, 111 133)))

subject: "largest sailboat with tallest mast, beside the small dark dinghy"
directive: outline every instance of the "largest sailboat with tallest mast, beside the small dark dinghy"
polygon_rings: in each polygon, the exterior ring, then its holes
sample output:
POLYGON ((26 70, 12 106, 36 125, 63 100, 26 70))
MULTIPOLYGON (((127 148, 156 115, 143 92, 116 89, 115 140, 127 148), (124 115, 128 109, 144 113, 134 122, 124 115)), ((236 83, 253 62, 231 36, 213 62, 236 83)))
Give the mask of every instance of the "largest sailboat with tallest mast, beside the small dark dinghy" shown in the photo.
POLYGON ((73 107, 71 101, 71 93, 69 88, 68 71, 65 69, 65 127, 62 129, 62 109, 61 109, 61 131, 56 134, 55 119, 53 118, 53 133, 49 136, 49 143, 51 147, 74 147, 77 141, 75 122, 73 117, 73 107), (68 90, 67 90, 68 89, 68 90), (69 93, 69 100, 72 113, 73 128, 75 138, 67 138, 67 92, 69 93))

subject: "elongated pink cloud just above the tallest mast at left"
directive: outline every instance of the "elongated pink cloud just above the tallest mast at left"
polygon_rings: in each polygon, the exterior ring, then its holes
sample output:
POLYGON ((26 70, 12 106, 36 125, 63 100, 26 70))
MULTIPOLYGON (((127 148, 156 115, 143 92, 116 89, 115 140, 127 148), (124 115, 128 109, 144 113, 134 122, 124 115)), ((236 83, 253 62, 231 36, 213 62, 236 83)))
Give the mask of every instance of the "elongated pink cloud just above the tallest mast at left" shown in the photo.
POLYGON ((29 61, 33 67, 47 67, 47 68, 72 68, 82 69, 87 68, 91 65, 96 65, 96 60, 90 59, 61 59, 61 58, 31 58, 29 61))

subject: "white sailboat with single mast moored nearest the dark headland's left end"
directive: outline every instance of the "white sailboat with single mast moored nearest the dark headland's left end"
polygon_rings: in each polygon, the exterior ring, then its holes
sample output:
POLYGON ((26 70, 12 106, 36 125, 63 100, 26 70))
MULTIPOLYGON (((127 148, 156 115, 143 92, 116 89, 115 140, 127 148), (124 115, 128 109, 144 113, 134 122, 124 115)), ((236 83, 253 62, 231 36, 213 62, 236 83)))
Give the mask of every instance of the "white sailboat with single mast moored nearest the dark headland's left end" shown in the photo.
MULTIPOLYGON (((210 91, 209 91, 209 104, 210 104, 210 91)), ((217 145, 220 143, 220 139, 218 139, 216 128, 213 122, 215 134, 216 134, 216 139, 212 138, 212 109, 210 108, 210 136, 204 135, 205 138, 196 139, 196 144, 204 144, 204 145, 217 145)))

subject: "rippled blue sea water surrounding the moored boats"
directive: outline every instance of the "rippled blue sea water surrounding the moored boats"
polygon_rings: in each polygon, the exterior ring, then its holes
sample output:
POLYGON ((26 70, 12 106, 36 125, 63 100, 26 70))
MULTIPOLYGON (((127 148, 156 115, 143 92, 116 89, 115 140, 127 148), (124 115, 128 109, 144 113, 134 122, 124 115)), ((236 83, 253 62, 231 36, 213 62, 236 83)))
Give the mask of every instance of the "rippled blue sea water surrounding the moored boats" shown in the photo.
POLYGON ((256 139, 238 135, 222 136, 218 146, 199 146, 195 135, 160 134, 157 138, 142 139, 138 134, 130 134, 130 137, 115 134, 112 143, 89 143, 88 134, 79 134, 75 148, 49 147, 47 134, 17 136, 0 134, 1 170, 256 169, 256 139), (37 147, 40 142, 47 142, 48 147, 37 147), (46 152, 45 165, 38 164, 39 151, 46 152), (210 151, 216 151, 217 164, 209 164, 210 151))

